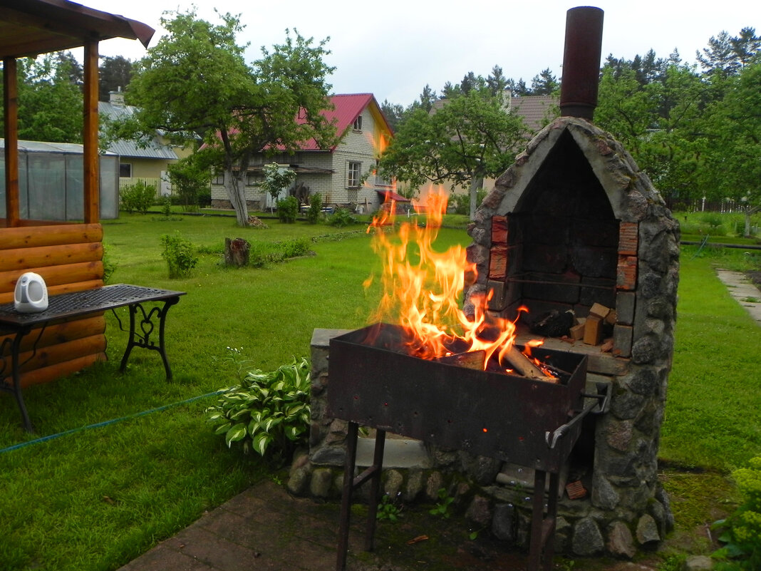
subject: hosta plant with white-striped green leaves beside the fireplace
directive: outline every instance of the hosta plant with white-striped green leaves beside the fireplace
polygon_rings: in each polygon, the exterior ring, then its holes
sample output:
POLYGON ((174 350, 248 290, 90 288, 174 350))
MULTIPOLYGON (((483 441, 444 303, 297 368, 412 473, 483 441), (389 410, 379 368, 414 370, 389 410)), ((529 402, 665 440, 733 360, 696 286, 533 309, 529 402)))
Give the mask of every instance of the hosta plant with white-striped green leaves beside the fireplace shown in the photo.
POLYGON ((221 392, 217 404, 206 409, 215 433, 244 452, 288 458, 309 429, 310 365, 295 359, 271 372, 249 372, 234 387, 221 392))

